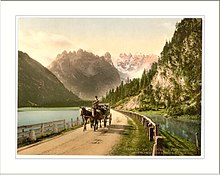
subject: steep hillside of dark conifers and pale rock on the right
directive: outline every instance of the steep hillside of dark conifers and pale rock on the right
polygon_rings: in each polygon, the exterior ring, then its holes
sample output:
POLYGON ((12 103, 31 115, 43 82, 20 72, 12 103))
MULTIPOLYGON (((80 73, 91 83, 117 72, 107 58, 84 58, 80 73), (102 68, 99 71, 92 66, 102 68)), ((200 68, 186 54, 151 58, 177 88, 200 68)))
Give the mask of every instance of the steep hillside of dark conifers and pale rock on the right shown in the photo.
POLYGON ((118 105, 136 96, 139 110, 165 109, 169 115, 201 114, 202 19, 185 18, 176 24, 158 63, 141 78, 121 83, 103 101, 118 105))

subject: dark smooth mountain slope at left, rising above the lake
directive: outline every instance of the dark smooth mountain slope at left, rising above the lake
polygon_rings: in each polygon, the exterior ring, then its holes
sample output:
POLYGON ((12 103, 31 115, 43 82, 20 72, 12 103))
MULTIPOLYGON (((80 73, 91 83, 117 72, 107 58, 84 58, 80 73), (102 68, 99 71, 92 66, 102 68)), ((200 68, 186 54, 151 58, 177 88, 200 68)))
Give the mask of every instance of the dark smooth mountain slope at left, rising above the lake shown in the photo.
POLYGON ((73 106, 79 100, 47 68, 18 51, 18 107, 73 106))

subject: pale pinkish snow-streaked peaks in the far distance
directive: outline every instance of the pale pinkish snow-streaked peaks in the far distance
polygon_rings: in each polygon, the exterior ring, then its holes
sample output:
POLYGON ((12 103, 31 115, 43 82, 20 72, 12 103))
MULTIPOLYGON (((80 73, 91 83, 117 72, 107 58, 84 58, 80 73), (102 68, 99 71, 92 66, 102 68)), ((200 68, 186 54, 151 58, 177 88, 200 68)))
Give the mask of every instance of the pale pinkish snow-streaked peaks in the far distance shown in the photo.
POLYGON ((143 70, 149 70, 154 62, 158 61, 157 55, 144 55, 142 53, 121 53, 116 61, 116 68, 121 73, 121 78, 137 78, 143 73, 143 70), (126 77, 127 76, 127 77, 126 77))

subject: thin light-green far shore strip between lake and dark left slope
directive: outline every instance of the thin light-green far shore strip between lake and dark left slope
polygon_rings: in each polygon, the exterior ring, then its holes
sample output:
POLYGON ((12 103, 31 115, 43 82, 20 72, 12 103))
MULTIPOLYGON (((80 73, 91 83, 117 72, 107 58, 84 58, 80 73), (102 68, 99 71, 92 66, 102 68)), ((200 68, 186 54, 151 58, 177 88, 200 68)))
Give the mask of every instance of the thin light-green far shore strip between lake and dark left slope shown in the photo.
POLYGON ((61 111, 61 110, 78 110, 79 107, 25 107, 18 108, 18 112, 22 111, 61 111))

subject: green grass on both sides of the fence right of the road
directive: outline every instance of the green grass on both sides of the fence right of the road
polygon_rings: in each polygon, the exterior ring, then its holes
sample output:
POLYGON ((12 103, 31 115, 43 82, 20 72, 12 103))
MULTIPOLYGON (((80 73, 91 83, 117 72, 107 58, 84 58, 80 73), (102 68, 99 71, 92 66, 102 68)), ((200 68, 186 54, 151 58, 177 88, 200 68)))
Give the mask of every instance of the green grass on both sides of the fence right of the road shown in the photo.
MULTIPOLYGON (((142 124, 131 117, 128 119, 129 129, 123 133, 121 141, 116 145, 111 155, 118 156, 151 156, 154 141, 148 140, 148 134, 142 124)), ((163 156, 197 156, 200 155, 196 145, 185 139, 174 136, 160 129, 163 137, 162 149, 163 156)))

